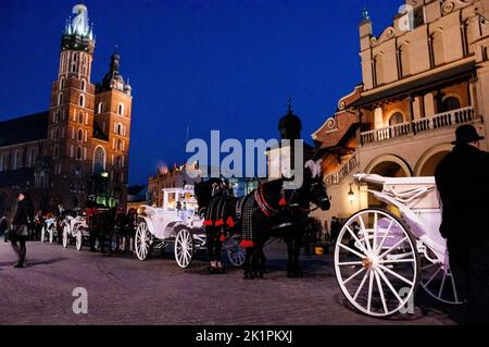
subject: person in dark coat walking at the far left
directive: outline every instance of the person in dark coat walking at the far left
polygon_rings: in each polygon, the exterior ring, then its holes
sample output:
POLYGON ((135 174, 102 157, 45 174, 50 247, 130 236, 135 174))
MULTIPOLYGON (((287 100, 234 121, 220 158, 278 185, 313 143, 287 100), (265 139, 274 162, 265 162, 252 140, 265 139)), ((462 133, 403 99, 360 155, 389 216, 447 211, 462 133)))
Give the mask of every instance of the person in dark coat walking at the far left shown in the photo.
POLYGON ((12 249, 18 256, 18 262, 15 268, 25 267, 26 247, 25 243, 29 235, 29 224, 34 221, 34 206, 27 191, 22 191, 17 197, 17 209, 12 220, 12 232, 10 240, 12 249), (17 243, 21 245, 18 247, 17 243))

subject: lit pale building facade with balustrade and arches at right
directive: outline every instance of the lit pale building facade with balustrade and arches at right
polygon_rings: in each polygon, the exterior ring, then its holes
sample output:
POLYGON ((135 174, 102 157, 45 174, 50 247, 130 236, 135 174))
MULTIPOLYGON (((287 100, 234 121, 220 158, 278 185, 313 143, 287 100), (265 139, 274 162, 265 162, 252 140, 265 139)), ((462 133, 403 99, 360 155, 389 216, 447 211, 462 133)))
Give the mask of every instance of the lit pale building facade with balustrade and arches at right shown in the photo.
POLYGON ((378 205, 353 174, 431 176, 455 128, 473 124, 489 148, 489 0, 405 0, 378 37, 360 24, 362 83, 312 135, 323 151, 331 210, 378 205))

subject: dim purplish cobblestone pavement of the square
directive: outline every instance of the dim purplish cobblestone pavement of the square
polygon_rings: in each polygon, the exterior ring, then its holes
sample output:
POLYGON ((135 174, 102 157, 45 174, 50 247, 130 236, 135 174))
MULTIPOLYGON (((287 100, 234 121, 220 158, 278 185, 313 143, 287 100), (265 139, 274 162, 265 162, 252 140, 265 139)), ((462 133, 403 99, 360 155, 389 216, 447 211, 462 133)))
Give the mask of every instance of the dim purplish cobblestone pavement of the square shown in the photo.
POLYGON ((449 310, 423 294, 413 314, 373 319, 346 303, 330 256, 304 256, 303 278, 287 278, 283 243, 266 248, 264 280, 240 269, 209 275, 205 255, 187 270, 170 251, 139 261, 74 246, 27 244, 27 268, 14 269, 10 244, 0 244, 0 324, 454 324, 449 310), (75 287, 88 290, 88 313, 75 314, 75 287))

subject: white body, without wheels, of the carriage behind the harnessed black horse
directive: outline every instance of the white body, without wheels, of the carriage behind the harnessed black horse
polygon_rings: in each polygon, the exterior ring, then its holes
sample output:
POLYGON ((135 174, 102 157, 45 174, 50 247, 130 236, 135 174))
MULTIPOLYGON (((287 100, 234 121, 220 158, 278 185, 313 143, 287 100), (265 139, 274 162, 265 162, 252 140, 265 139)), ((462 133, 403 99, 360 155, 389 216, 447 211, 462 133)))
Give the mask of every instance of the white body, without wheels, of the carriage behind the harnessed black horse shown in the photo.
POLYGON ((158 239, 174 238, 178 225, 185 225, 191 230, 202 228, 203 221, 198 214, 193 186, 165 188, 163 189, 163 208, 145 205, 140 206, 139 210, 140 218, 147 222, 149 231, 158 239))

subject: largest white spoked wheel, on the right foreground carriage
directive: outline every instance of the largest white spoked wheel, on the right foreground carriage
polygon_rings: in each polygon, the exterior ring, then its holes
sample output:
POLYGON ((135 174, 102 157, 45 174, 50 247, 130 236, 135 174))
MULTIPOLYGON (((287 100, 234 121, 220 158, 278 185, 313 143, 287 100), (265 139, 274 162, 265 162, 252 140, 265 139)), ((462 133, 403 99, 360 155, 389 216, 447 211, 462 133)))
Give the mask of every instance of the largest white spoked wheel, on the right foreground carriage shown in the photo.
POLYGON ((419 256, 409 228, 381 209, 350 216, 335 248, 335 272, 348 301, 359 311, 386 317, 414 298, 419 256))

